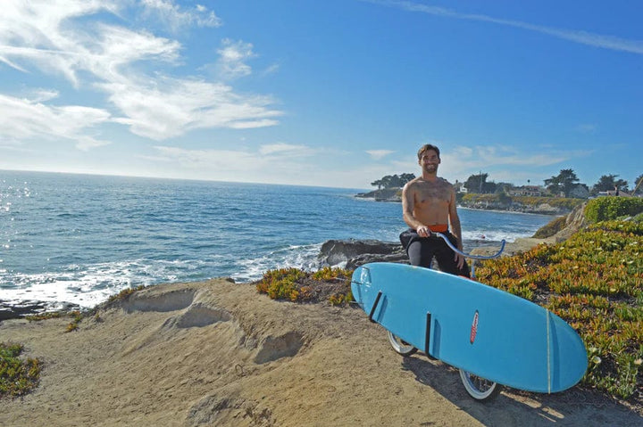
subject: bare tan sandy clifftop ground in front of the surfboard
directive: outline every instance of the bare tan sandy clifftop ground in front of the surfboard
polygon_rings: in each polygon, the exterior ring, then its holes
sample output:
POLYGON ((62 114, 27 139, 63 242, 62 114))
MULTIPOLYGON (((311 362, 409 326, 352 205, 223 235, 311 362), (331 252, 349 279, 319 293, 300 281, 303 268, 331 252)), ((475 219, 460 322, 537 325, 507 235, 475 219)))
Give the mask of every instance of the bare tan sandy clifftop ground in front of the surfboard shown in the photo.
POLYGON ((640 425, 580 389, 505 390, 480 404, 455 369, 399 357, 359 308, 269 300, 225 280, 146 288, 66 319, 0 323, 45 363, 40 386, 0 404, 0 425, 640 425))

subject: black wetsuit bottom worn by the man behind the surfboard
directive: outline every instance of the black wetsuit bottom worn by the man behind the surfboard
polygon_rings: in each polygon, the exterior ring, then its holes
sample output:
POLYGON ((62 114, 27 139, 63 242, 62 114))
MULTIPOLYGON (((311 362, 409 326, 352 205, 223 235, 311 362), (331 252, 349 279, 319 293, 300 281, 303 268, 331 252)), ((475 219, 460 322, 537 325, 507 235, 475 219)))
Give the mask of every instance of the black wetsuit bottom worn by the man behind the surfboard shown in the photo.
MULTIPOLYGON (((457 239, 453 234, 448 231, 443 234, 447 236, 454 246, 457 246, 457 239)), ((412 266, 430 268, 433 257, 435 257, 440 271, 451 275, 471 277, 466 261, 464 261, 462 268, 458 268, 455 261, 455 252, 448 247, 447 242, 437 235, 420 237, 415 230, 409 228, 400 234, 400 242, 402 242, 412 266)))

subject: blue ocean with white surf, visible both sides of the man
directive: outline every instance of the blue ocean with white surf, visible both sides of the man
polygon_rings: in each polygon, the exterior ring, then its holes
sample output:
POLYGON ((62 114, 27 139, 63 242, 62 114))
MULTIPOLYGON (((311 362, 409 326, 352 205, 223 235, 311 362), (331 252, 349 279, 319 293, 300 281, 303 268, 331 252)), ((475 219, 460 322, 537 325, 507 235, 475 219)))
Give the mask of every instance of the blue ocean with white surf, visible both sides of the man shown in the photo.
MULTIPOLYGON (((0 300, 88 308, 138 285, 314 270, 330 239, 398 242, 401 205, 363 191, 0 170, 0 300)), ((466 251, 552 219, 458 212, 466 251)))

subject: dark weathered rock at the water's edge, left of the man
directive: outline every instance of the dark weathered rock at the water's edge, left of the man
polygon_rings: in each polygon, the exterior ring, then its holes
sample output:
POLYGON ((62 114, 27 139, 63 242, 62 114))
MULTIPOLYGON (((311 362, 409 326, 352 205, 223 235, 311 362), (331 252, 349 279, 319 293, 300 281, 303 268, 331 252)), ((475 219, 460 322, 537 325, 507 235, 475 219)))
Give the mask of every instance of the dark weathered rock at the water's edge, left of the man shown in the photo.
POLYGON ((321 265, 355 268, 369 262, 408 263, 400 243, 377 240, 330 240, 321 245, 321 265))

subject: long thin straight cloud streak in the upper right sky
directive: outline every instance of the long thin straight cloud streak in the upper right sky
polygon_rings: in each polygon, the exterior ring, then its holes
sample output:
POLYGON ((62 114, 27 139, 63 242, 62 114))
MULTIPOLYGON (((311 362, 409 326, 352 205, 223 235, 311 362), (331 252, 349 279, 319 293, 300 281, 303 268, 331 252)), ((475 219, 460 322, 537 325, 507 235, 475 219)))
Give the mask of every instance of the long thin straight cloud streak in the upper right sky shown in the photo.
POLYGON ((456 20, 465 21, 482 21, 489 22, 497 25, 505 25, 507 27, 514 27, 518 29, 527 29, 536 31, 548 36, 558 37, 581 45, 590 45, 602 49, 610 49, 615 51, 629 52, 643 54, 643 40, 630 40, 622 37, 606 36, 596 34, 589 31, 578 29, 556 29, 542 25, 530 24, 523 21, 504 20, 494 18, 483 14, 471 14, 455 12, 451 9, 438 6, 430 6, 428 4, 419 4, 408 1, 397 0, 361 0, 366 3, 380 4, 388 7, 396 7, 408 12, 421 12, 435 16, 443 16, 456 20))

